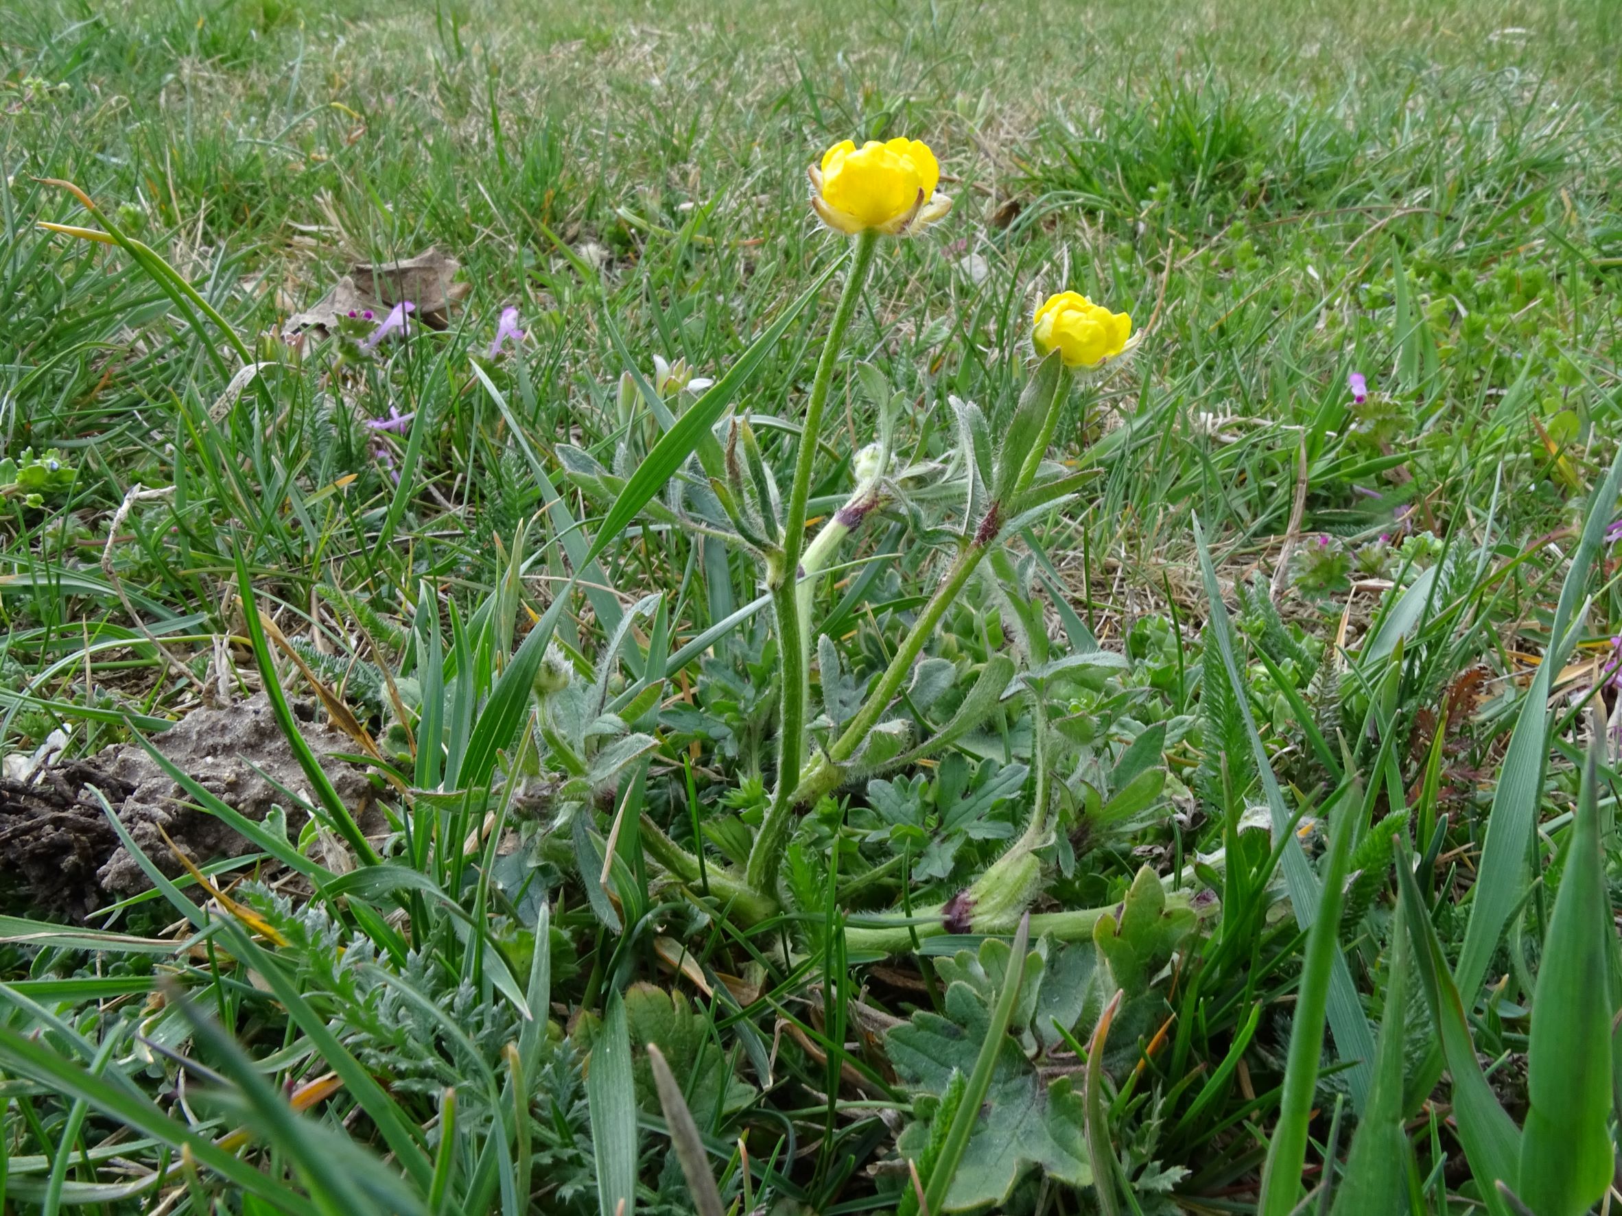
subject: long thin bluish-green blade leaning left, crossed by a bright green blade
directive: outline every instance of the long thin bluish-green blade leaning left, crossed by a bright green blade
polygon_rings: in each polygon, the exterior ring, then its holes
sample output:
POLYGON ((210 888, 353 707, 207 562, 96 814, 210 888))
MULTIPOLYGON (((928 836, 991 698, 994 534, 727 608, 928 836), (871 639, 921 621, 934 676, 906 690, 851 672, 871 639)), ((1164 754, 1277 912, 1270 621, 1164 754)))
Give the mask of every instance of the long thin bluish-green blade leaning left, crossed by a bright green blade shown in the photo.
MULTIPOLYGON (((1200 553, 1200 574, 1205 577, 1205 595, 1210 600, 1212 616, 1207 623, 1221 653, 1223 666, 1228 671, 1228 683, 1233 687, 1239 715, 1244 718, 1246 734, 1251 738, 1251 752, 1255 757, 1255 769, 1262 777, 1262 790, 1267 793, 1267 809, 1273 825, 1273 835, 1285 840, 1280 864, 1285 871, 1285 890, 1289 893, 1289 905, 1296 914, 1296 924, 1302 929, 1312 926, 1319 908, 1319 880, 1307 863, 1307 854, 1301 841, 1291 832, 1291 814, 1285 807, 1285 794, 1273 777, 1273 767, 1262 746, 1262 736, 1255 731, 1255 718, 1251 713, 1251 699, 1246 683, 1239 674, 1239 663, 1234 657, 1229 634, 1228 608, 1221 602, 1221 589, 1216 584, 1216 569, 1212 566, 1210 548, 1205 545, 1205 533, 1200 520, 1194 519, 1194 543, 1200 553)), ((1346 1062, 1346 1085, 1351 1090, 1351 1109, 1358 1114, 1367 1104, 1369 1086, 1374 1072, 1374 1034, 1369 1033, 1369 1020, 1362 1013, 1362 1002, 1358 989, 1351 983, 1351 970, 1346 958, 1337 950, 1330 960, 1328 981, 1328 1028, 1335 1036, 1335 1049, 1346 1062)))

